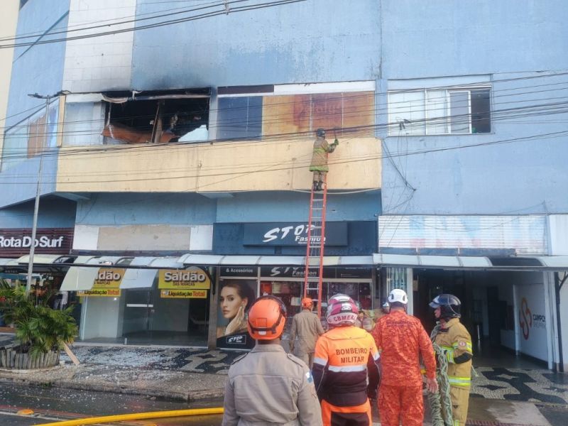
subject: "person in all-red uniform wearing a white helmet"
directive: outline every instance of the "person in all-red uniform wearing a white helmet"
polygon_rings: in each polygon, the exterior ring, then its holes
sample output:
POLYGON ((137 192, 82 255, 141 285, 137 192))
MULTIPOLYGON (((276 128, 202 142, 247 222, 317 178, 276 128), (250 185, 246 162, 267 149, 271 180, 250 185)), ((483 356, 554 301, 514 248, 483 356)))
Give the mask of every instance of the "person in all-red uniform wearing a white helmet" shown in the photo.
POLYGON ((408 297, 395 289, 388 295, 391 312, 378 320, 371 333, 381 351, 381 386, 378 389, 378 410, 381 425, 422 425, 422 374, 420 355, 426 366, 428 391, 436 393, 436 360, 430 337, 417 318, 406 313, 408 297))

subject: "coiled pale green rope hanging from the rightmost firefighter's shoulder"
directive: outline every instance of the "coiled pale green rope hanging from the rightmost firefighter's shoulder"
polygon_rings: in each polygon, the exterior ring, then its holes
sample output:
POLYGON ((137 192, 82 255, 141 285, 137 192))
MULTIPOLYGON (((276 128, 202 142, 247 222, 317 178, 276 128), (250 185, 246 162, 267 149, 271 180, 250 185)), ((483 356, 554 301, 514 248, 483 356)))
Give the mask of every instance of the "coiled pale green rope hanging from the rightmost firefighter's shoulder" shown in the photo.
POLYGON ((439 332, 440 325, 437 324, 430 334, 432 346, 437 358, 437 380, 439 390, 437 393, 427 393, 428 405, 430 405, 430 413, 432 415, 432 426, 452 426, 452 397, 449 394, 449 380, 448 380, 448 361, 442 348, 434 341, 439 332))

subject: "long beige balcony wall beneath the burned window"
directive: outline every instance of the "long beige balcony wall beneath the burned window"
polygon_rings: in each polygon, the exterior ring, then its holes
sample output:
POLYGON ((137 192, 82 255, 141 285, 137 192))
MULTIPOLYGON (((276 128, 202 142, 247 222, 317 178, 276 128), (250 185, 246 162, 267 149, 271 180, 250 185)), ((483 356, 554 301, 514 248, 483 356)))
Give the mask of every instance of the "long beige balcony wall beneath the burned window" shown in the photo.
MULTIPOLYGON (((331 141, 330 141, 331 142, 331 141)), ((312 139, 62 147, 57 192, 310 190, 312 139)), ((350 137, 329 155, 331 190, 379 189, 381 141, 350 137)))

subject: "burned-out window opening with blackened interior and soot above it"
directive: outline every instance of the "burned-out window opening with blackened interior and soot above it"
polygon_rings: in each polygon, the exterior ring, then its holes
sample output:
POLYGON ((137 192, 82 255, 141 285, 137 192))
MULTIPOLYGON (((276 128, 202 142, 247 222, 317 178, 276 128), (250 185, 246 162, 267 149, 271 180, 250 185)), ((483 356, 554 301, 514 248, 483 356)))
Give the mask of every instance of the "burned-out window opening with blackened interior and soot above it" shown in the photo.
POLYGON ((111 92, 102 135, 122 143, 207 140, 209 90, 111 92))

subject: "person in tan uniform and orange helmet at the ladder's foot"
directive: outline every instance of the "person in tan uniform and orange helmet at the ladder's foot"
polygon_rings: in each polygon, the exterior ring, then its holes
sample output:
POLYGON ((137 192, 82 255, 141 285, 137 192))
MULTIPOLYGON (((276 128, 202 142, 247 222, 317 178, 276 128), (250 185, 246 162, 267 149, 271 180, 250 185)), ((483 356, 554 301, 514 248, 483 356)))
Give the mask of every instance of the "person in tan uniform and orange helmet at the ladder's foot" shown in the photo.
POLYGON ((310 369, 314 364, 315 342, 317 337, 324 334, 320 318, 312 312, 313 305, 314 302, 310 297, 304 297, 302 312, 294 315, 290 327, 290 354, 295 354, 310 369))

